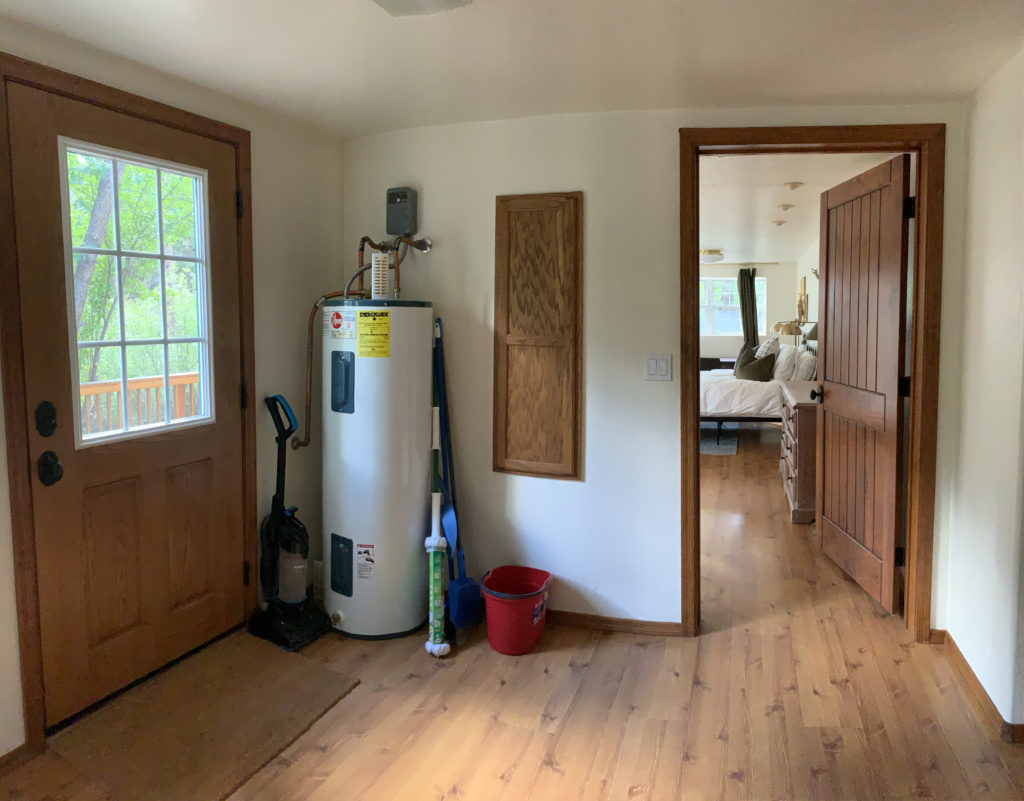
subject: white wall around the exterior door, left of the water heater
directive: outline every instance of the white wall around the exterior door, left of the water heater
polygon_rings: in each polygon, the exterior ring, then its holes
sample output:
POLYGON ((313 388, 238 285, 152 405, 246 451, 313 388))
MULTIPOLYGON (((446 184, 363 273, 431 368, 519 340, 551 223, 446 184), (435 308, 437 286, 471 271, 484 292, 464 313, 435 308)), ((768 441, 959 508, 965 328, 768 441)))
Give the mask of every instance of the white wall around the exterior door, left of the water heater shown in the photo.
MULTIPOLYGON (((256 387, 302 405, 310 304, 341 284, 342 145, 330 133, 35 29, 4 20, 0 49, 252 131, 256 387)), ((260 516, 273 492, 273 427, 257 410, 260 516)), ((318 548, 319 451, 289 455, 289 500, 318 548)), ((6 446, 4 446, 4 453, 6 446)), ((12 603, 7 464, 0 454, 0 753, 24 742, 12 603)))

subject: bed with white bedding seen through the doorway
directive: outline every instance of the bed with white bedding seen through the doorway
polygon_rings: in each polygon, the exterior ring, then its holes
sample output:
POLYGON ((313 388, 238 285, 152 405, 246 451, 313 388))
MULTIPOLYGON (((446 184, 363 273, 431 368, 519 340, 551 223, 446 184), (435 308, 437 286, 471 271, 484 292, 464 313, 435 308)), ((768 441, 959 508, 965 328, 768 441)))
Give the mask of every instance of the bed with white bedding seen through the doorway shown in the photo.
POLYGON ((813 378, 815 362, 813 347, 783 344, 771 381, 736 378, 731 370, 700 371, 700 422, 718 423, 719 440, 723 423, 780 422, 782 382, 813 378))

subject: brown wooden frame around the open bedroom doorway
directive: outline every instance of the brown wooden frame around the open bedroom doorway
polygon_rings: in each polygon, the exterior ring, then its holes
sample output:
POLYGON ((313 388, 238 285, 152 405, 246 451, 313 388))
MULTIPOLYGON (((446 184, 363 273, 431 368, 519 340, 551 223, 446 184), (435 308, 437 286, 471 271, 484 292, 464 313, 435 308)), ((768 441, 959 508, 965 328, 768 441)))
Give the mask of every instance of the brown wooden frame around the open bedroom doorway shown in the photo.
POLYGON ((914 153, 918 155, 905 620, 928 642, 932 614, 939 322, 942 300, 943 124, 679 129, 682 630, 700 632, 699 168, 705 155, 914 153))

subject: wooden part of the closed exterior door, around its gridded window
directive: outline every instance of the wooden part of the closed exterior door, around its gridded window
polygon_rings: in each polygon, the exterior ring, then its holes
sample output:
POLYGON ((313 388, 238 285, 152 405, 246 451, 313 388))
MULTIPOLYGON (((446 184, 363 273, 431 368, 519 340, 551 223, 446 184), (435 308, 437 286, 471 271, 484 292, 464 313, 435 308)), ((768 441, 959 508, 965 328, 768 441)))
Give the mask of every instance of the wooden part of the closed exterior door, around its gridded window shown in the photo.
POLYGON ((50 436, 29 431, 45 723, 53 725, 244 619, 238 173, 226 142, 43 89, 9 82, 7 111, 25 399, 29 410, 50 400, 57 418, 50 436), (216 366, 209 420, 77 444, 60 136, 205 171, 216 366), (36 474, 45 451, 63 466, 51 486, 36 474))

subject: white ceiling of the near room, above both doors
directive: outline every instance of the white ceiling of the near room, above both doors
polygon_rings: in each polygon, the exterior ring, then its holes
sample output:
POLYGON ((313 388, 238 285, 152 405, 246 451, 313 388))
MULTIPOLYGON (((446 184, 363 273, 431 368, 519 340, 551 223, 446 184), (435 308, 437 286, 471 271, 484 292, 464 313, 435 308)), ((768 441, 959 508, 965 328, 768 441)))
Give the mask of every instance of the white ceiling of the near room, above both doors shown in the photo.
POLYGON ((0 0, 0 12, 346 135, 947 100, 1024 43, 1020 0, 474 0, 397 18, 372 0, 0 0))

